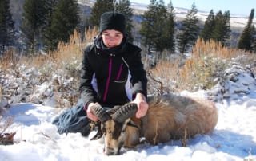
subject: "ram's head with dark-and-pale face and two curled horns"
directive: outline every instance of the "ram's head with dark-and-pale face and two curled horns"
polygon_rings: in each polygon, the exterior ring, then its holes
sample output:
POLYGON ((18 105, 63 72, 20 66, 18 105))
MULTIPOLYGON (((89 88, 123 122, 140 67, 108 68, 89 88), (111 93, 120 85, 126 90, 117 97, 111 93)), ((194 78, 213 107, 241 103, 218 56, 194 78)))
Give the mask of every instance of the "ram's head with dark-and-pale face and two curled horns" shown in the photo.
POLYGON ((104 152, 106 155, 118 155, 126 139, 126 126, 130 117, 135 116, 137 104, 129 103, 106 110, 95 106, 93 112, 101 122, 98 132, 92 139, 99 139, 105 135, 104 152))

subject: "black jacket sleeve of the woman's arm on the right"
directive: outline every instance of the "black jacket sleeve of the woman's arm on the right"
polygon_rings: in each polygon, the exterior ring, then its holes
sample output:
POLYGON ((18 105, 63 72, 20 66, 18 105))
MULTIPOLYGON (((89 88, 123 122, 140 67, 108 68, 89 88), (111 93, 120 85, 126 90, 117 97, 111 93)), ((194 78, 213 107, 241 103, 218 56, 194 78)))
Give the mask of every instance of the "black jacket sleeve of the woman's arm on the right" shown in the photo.
POLYGON ((130 63, 130 83, 132 85, 132 97, 136 96, 137 93, 142 93, 144 96, 147 96, 147 78, 146 71, 142 64, 141 49, 137 47, 134 50, 134 57, 130 63))

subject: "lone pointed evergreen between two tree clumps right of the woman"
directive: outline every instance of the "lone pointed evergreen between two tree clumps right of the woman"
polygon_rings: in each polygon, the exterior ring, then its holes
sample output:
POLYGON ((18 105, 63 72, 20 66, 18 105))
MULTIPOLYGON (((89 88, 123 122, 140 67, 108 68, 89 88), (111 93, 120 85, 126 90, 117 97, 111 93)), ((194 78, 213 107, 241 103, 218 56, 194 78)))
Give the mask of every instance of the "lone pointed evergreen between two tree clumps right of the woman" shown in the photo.
POLYGON ((185 20, 182 21, 182 27, 180 29, 180 33, 178 33, 178 49, 180 53, 186 53, 198 39, 199 20, 196 16, 197 13, 198 10, 193 3, 191 10, 189 10, 189 12, 186 14, 185 20))

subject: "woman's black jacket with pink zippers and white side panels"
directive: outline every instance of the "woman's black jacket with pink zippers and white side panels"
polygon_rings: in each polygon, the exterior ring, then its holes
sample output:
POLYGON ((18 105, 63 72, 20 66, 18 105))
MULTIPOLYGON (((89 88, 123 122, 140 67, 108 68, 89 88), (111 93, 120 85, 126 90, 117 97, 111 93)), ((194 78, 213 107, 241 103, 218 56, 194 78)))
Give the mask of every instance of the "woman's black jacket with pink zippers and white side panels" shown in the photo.
POLYGON ((79 90, 85 104, 98 102, 112 108, 126 104, 126 81, 130 71, 132 95, 141 92, 146 96, 146 71, 143 69, 141 49, 126 38, 115 49, 104 49, 101 37, 87 45, 82 55, 81 84, 79 90), (91 81, 97 80, 97 92, 91 81))

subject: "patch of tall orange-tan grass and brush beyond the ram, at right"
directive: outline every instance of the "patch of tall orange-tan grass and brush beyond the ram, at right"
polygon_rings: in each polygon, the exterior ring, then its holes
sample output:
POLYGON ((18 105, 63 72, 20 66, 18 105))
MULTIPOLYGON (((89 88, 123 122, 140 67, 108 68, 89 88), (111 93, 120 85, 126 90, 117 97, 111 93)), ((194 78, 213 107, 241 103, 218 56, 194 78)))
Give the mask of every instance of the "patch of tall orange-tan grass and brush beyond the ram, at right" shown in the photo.
POLYGON ((193 91, 213 87, 216 83, 214 79, 228 68, 236 57, 249 60, 254 55, 240 49, 223 47, 216 41, 198 39, 192 48, 191 57, 186 59, 180 71, 179 88, 193 91))

